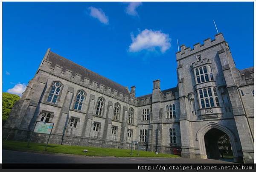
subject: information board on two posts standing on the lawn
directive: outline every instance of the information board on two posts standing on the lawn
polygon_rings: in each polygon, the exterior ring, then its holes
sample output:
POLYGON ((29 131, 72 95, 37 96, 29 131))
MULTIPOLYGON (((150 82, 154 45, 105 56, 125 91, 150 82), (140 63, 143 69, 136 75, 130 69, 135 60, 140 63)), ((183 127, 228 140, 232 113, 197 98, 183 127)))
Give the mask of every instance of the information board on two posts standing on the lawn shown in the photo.
POLYGON ((54 126, 54 123, 53 123, 53 122, 41 122, 41 121, 36 121, 34 130, 33 130, 32 133, 31 133, 31 136, 30 136, 29 143, 28 143, 27 147, 29 147, 29 144, 30 144, 30 141, 31 141, 31 138, 32 138, 32 134, 33 134, 33 133, 49 134, 49 137, 48 137, 48 140, 47 140, 45 149, 44 149, 44 150, 46 151, 47 145, 48 145, 48 142, 49 142, 49 139, 50 139, 50 136, 51 136, 51 134, 52 134, 52 128, 53 128, 53 126, 54 126))

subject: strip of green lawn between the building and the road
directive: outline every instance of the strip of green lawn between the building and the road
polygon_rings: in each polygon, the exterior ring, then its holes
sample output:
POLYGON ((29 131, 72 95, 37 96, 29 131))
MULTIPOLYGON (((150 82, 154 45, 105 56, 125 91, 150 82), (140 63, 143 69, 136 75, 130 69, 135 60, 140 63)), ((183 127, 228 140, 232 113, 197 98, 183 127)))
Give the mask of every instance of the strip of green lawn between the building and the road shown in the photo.
POLYGON ((30 143, 27 147, 27 142, 21 141, 3 141, 3 149, 18 150, 18 151, 32 151, 40 153, 64 153, 75 155, 87 155, 87 156, 114 156, 114 157, 166 157, 166 158, 178 158, 178 155, 159 153, 156 155, 154 152, 140 151, 139 156, 137 150, 133 151, 130 155, 131 149, 114 149, 114 148, 101 148, 101 147, 83 147, 83 146, 69 146, 60 144, 48 144, 47 151, 44 151, 44 143, 30 143), (83 150, 87 149, 88 152, 84 153, 83 150))

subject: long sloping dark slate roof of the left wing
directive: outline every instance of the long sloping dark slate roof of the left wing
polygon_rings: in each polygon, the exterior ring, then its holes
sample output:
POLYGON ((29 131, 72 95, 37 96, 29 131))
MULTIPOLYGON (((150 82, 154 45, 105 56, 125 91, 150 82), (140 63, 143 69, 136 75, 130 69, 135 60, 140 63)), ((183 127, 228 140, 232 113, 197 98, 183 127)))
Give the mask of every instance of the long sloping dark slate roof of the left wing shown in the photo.
POLYGON ((49 52, 49 55, 46 60, 52 62, 51 64, 52 67, 54 67, 57 64, 63 67, 62 68, 63 71, 65 71, 66 69, 71 70, 73 72, 72 73, 73 76, 75 76, 76 73, 78 73, 82 76, 81 79, 87 78, 87 79, 90 79, 90 82, 92 82, 93 80, 95 82, 98 82, 98 84, 105 85, 106 87, 111 87, 112 89, 115 89, 118 92, 129 95, 129 91, 127 87, 124 87, 116 82, 113 82, 110 79, 99 75, 98 73, 88 70, 87 68, 84 68, 70 61, 69 59, 66 59, 58 54, 53 53, 52 51, 49 52))

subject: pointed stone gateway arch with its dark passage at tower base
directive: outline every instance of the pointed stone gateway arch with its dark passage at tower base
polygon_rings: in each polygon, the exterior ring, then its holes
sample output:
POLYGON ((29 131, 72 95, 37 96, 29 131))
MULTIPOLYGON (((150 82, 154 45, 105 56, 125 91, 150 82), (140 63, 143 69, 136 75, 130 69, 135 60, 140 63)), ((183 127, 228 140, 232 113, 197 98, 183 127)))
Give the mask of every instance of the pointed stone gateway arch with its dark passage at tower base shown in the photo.
POLYGON ((196 133, 196 141, 199 143, 198 146, 202 158, 219 158, 218 138, 224 133, 230 138, 234 161, 239 162, 236 136, 230 129, 215 122, 205 124, 196 133), (214 133, 214 135, 211 135, 211 133, 214 133))

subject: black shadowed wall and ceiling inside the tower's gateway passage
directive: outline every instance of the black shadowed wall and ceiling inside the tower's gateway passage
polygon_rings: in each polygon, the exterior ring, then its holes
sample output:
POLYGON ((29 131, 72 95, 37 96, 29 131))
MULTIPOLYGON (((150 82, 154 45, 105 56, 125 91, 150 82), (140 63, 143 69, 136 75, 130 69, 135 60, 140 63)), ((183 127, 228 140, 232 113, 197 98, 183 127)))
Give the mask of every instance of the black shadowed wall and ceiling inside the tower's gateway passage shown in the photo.
POLYGON ((204 143, 205 143, 205 149, 208 159, 220 159, 220 151, 218 146, 219 138, 223 135, 226 135, 221 130, 218 130, 216 128, 210 129, 205 135, 204 135, 204 143))

